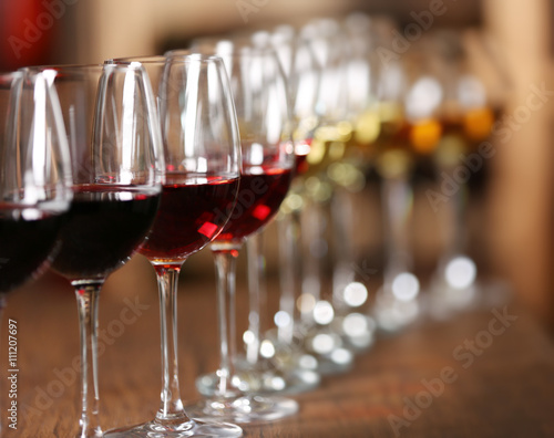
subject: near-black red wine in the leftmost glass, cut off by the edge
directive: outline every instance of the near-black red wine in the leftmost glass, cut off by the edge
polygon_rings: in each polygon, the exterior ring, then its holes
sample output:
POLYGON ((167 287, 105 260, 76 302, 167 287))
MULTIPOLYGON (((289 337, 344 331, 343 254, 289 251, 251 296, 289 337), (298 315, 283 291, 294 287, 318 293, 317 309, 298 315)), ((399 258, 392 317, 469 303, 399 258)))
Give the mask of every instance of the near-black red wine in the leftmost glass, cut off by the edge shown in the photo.
POLYGON ((42 273, 51 262, 63 215, 0 205, 0 292, 42 273))

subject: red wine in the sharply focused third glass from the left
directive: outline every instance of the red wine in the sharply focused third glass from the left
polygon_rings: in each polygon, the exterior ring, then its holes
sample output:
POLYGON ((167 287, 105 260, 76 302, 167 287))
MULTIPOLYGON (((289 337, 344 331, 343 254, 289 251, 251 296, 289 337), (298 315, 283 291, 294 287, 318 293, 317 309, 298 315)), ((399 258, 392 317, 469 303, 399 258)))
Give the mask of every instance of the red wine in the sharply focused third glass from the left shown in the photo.
POLYGON ((141 253, 154 262, 184 260, 222 231, 238 178, 168 174, 152 233, 141 253))

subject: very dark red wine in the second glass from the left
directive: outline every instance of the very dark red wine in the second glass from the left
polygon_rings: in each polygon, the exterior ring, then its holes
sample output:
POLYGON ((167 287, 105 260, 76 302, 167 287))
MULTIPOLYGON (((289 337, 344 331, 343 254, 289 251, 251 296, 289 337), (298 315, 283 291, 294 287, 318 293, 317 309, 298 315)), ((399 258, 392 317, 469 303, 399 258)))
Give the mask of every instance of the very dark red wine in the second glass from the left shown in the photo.
POLYGON ((148 234, 160 197, 117 185, 76 186, 53 269, 70 280, 107 275, 148 234))

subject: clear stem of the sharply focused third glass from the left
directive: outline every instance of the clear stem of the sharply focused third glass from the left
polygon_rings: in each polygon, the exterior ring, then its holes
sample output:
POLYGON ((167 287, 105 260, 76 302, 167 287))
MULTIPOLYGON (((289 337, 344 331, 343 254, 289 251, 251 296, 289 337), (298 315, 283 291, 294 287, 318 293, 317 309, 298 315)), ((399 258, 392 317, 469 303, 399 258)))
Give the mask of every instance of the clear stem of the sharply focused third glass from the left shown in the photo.
POLYGON ((177 363, 177 282, 181 265, 154 265, 160 292, 160 324, 162 335, 162 394, 156 421, 187 420, 178 386, 177 363))

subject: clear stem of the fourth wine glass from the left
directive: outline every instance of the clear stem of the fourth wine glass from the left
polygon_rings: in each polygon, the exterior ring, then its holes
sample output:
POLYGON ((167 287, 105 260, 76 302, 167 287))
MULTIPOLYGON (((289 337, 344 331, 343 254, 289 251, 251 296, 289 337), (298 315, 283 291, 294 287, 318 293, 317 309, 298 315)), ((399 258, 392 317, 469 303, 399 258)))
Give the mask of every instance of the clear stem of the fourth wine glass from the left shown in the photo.
POLYGON ((236 361, 235 288, 236 258, 239 248, 238 246, 234 249, 212 250, 217 277, 217 315, 220 345, 219 382, 216 395, 222 397, 233 397, 236 394, 236 389, 232 387, 232 379, 235 375, 236 361))

